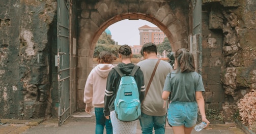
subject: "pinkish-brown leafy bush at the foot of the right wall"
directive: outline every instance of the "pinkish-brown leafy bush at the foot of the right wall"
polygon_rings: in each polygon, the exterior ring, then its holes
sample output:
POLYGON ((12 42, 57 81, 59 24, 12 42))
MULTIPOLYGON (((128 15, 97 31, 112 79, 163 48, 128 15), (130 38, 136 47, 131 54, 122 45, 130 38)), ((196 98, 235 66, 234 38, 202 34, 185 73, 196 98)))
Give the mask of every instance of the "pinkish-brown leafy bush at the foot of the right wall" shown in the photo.
POLYGON ((251 92, 244 95, 238 103, 239 114, 242 117, 243 124, 249 125, 251 129, 252 124, 256 121, 256 92, 251 92))

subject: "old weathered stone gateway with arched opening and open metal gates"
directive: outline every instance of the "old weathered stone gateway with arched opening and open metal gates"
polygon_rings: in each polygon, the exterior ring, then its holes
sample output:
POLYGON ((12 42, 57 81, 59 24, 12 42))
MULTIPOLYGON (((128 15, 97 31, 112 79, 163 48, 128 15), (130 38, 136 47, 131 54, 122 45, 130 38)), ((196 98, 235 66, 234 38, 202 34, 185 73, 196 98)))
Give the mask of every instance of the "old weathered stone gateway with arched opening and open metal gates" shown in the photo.
POLYGON ((0 2, 0 118, 84 109, 83 88, 101 33, 123 19, 158 26, 196 57, 207 112, 231 120, 256 85, 256 1, 43 0, 0 2))

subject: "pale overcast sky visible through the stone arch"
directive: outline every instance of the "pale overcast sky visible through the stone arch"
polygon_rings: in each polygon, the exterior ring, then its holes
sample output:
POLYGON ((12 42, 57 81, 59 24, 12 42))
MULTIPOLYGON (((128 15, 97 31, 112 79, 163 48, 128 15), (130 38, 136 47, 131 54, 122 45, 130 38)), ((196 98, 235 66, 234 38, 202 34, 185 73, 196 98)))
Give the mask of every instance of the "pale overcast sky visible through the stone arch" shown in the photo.
POLYGON ((157 27, 153 23, 146 20, 121 20, 108 27, 111 32, 112 39, 118 42, 118 45, 139 45, 138 28, 144 25, 157 27))

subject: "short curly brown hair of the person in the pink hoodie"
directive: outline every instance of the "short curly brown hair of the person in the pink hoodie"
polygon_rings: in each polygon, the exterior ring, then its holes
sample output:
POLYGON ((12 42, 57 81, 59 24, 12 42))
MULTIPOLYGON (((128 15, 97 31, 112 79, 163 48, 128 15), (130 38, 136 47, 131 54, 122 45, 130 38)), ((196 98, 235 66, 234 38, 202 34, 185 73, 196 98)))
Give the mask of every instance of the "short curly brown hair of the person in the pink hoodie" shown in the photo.
POLYGON ((111 64, 113 60, 117 59, 117 57, 109 51, 102 51, 99 54, 97 59, 98 63, 109 63, 111 64))

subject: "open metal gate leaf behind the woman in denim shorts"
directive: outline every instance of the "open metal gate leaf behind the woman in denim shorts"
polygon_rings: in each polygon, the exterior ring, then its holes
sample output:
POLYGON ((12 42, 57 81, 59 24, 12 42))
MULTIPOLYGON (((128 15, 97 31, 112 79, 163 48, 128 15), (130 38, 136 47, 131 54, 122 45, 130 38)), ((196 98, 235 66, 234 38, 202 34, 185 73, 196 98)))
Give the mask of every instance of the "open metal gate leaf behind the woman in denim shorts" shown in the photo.
POLYGON ((190 50, 195 56, 196 70, 202 74, 202 0, 192 0, 193 36, 190 50))

